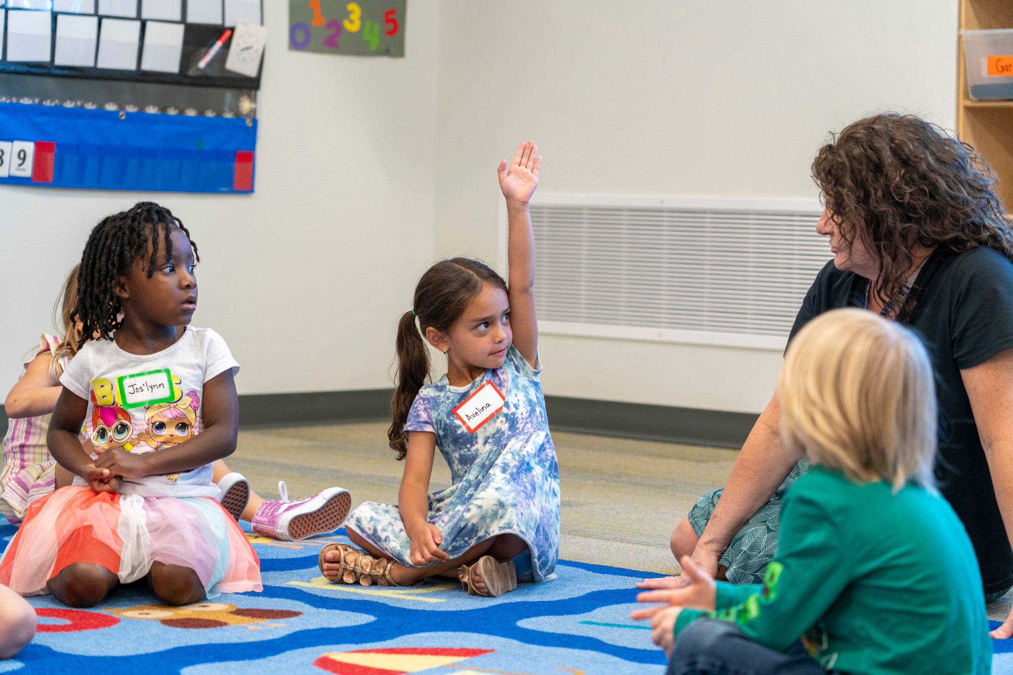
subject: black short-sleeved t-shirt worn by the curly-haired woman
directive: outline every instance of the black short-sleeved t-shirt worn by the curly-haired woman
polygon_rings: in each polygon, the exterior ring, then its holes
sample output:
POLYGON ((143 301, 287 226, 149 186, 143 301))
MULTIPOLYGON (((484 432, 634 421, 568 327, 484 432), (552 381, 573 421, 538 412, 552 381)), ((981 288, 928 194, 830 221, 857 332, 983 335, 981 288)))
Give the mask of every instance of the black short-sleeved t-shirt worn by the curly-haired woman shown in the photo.
MULTIPOLYGON (((866 283, 854 272, 837 269, 833 260, 827 263, 805 293, 789 342, 824 312, 865 309, 866 283)), ((1013 551, 960 370, 1013 347, 1013 263, 988 248, 962 253, 936 249, 919 273, 911 297, 914 309, 900 321, 922 337, 935 366, 939 490, 967 528, 985 592, 1001 591, 1013 585, 1013 551)))

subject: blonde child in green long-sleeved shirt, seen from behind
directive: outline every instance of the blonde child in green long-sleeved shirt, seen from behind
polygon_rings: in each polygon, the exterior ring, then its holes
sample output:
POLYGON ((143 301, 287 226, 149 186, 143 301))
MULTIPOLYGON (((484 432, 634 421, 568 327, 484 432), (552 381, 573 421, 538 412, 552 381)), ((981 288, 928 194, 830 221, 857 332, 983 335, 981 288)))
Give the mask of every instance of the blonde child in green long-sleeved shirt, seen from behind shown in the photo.
POLYGON ((785 497, 762 586, 717 582, 689 556, 688 587, 641 593, 670 675, 985 675, 982 579, 935 488, 936 397, 904 326, 835 310, 792 341, 778 384, 781 435, 813 469, 785 497))

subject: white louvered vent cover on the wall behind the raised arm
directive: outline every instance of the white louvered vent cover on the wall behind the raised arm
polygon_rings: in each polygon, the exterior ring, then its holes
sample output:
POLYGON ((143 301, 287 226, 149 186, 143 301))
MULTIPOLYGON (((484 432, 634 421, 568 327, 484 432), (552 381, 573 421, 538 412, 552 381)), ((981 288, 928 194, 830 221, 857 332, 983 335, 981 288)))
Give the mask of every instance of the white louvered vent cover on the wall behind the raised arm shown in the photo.
MULTIPOLYGON (((536 195, 543 333, 783 349, 830 259, 814 199, 536 195)), ((500 269, 505 271, 505 210, 500 269)))

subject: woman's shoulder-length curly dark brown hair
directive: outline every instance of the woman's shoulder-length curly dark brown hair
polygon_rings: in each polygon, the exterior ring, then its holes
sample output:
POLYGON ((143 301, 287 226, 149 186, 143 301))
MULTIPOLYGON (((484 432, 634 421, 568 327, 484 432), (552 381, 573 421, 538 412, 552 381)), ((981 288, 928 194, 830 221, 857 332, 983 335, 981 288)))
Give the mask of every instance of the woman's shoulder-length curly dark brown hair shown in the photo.
POLYGON ((1013 260, 996 174, 973 148, 921 117, 886 112, 848 124, 816 153, 812 179, 844 246, 860 237, 878 257, 873 291, 884 304, 904 285, 915 243, 986 246, 1013 260))

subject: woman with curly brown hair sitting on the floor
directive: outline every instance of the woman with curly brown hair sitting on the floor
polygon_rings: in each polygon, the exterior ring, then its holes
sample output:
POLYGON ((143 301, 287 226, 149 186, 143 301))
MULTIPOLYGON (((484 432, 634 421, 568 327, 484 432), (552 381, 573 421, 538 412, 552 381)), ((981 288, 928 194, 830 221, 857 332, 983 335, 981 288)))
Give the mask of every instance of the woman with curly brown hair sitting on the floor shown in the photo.
MULTIPOLYGON (((846 307, 922 337, 938 383, 936 478, 970 536, 986 601, 994 601, 1013 587, 1013 229, 996 176, 939 126, 885 113, 834 136, 812 177, 826 205, 816 232, 834 259, 806 293, 789 342, 816 316, 846 307)), ((775 395, 725 487, 701 497, 672 533, 677 558, 689 555, 732 583, 762 583, 784 495, 808 471, 804 452, 782 444, 780 420, 775 395)), ((1013 615, 992 635, 1013 635, 1013 615)))

